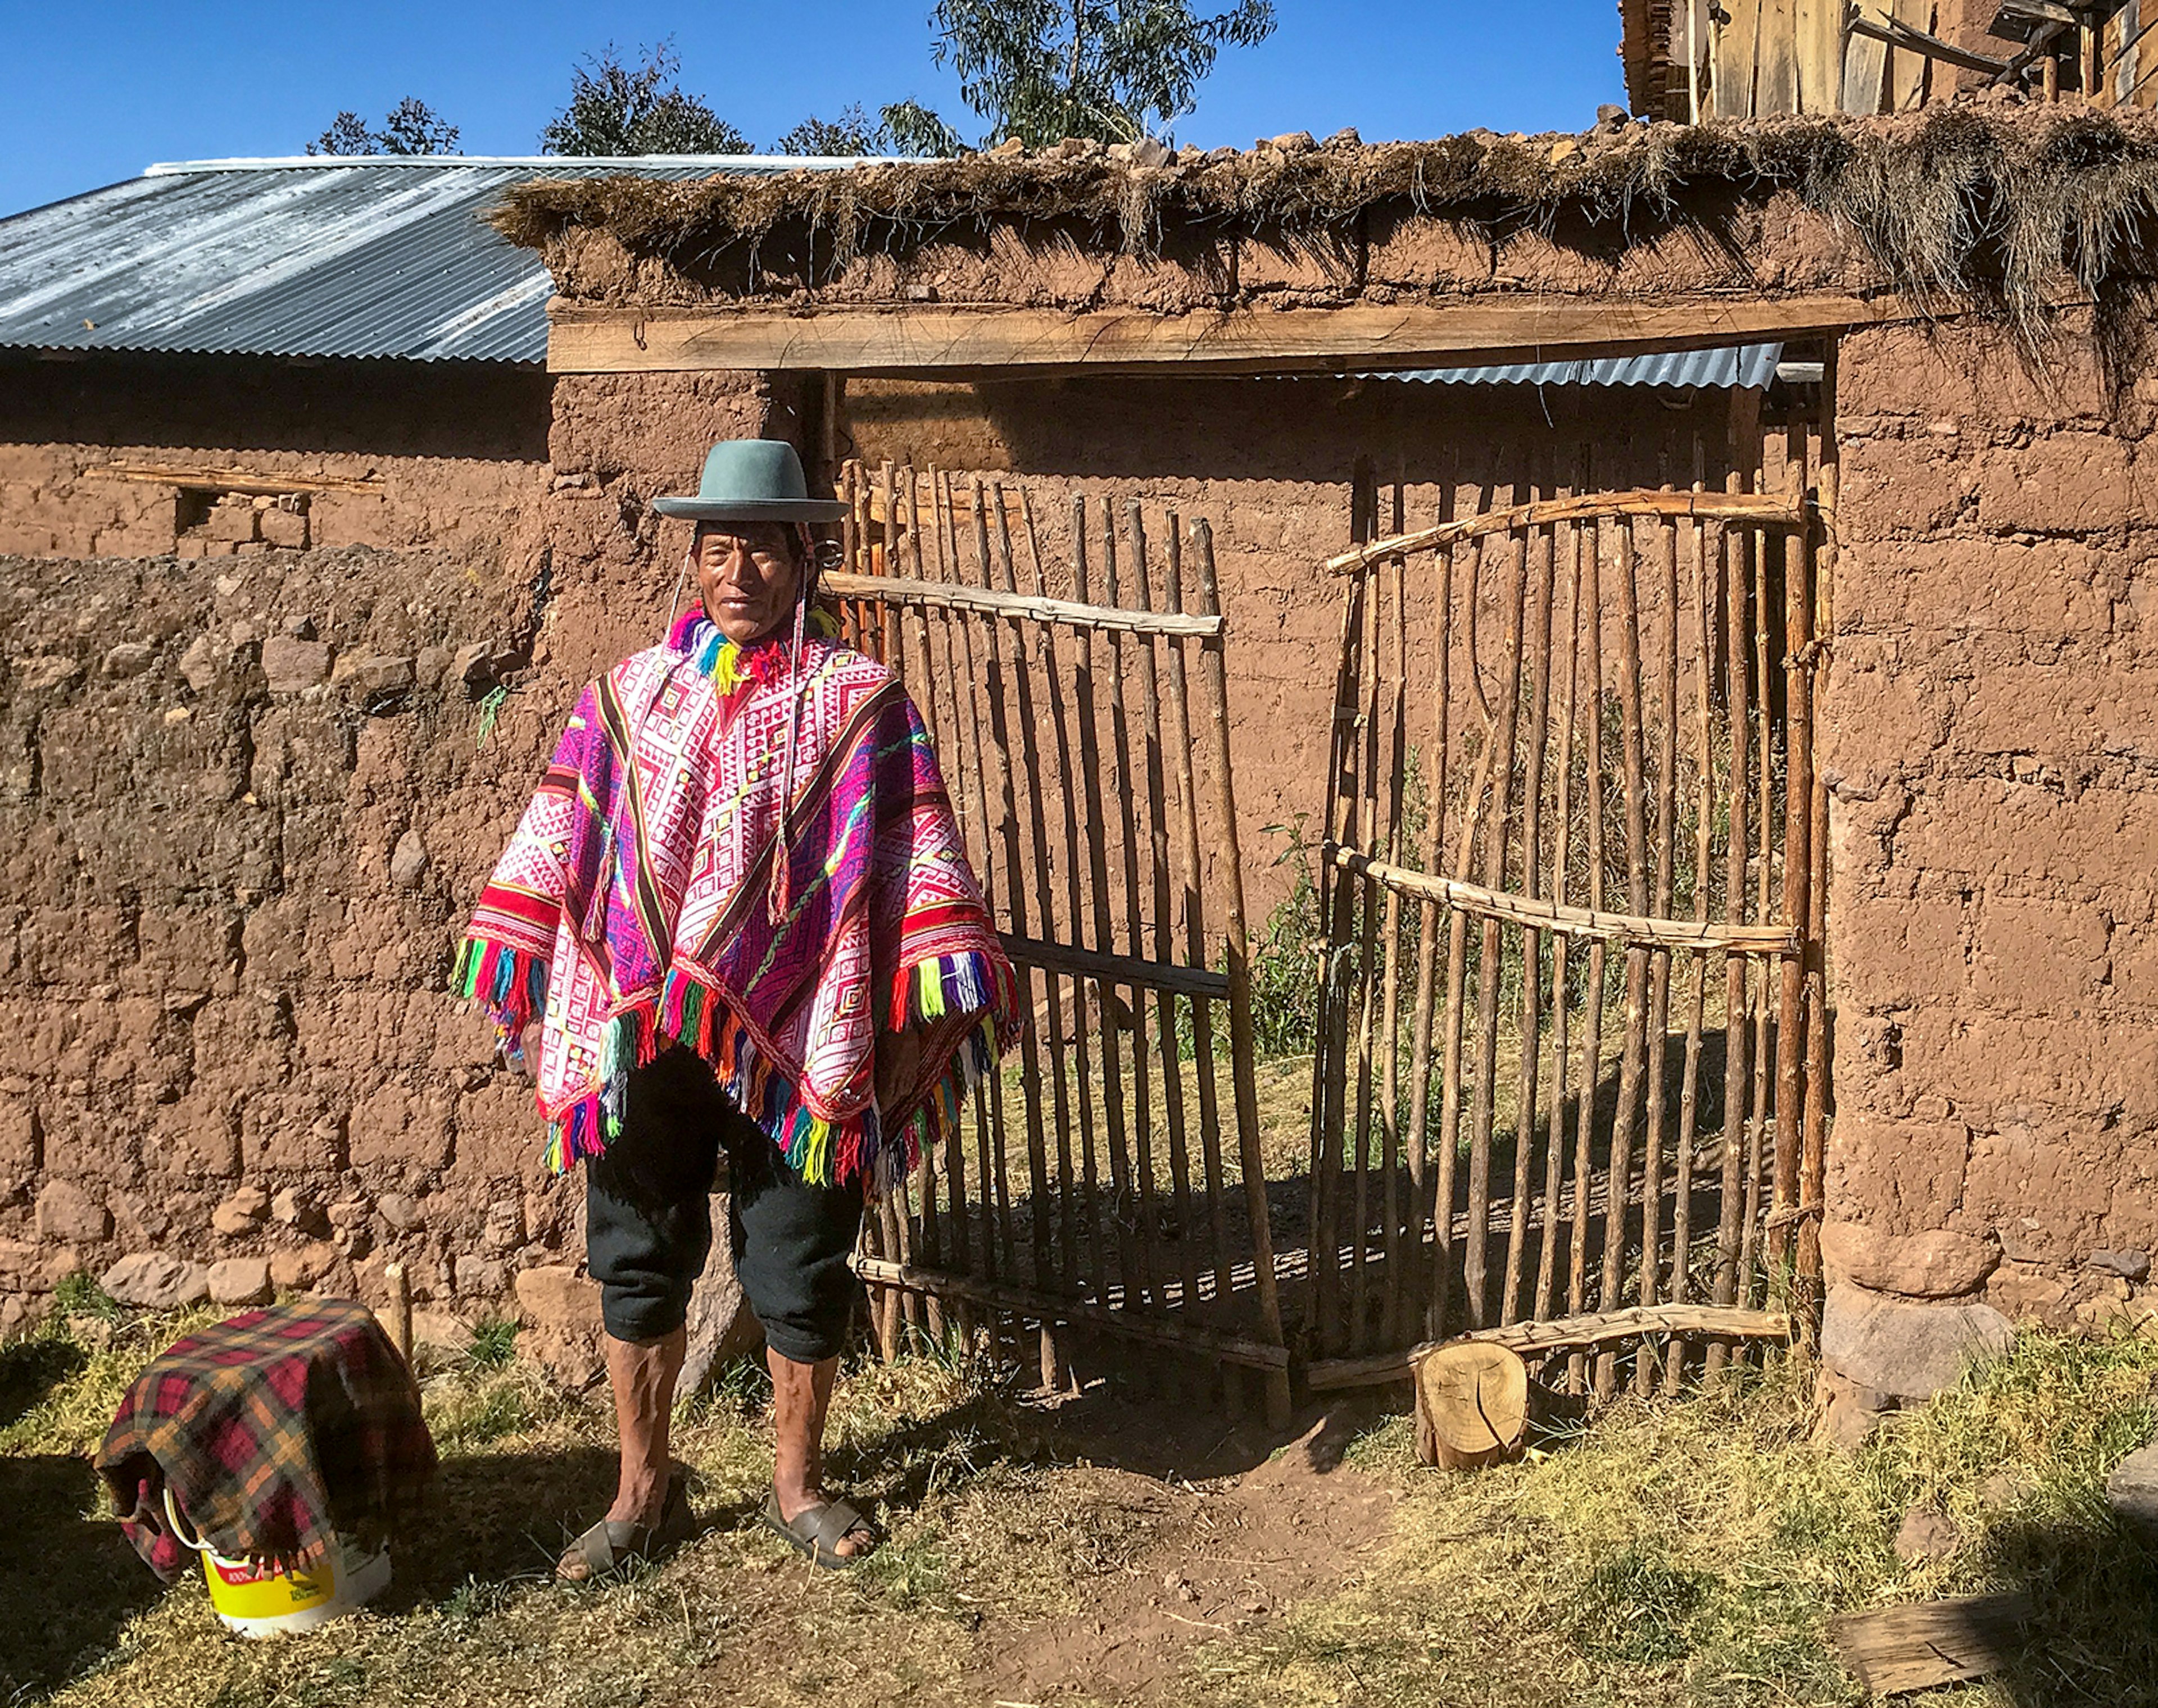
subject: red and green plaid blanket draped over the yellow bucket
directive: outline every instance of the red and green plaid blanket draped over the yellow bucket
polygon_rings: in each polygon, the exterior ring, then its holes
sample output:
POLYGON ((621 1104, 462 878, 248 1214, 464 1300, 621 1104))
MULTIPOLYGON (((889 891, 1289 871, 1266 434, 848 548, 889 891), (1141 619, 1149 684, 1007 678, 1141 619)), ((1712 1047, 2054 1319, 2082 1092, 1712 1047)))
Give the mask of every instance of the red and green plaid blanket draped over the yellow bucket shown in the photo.
POLYGON ((434 1475, 419 1389, 373 1316, 309 1298, 173 1341, 136 1376, 97 1449, 121 1529, 162 1579, 181 1518, 231 1559, 304 1566, 337 1533, 384 1542, 434 1475))

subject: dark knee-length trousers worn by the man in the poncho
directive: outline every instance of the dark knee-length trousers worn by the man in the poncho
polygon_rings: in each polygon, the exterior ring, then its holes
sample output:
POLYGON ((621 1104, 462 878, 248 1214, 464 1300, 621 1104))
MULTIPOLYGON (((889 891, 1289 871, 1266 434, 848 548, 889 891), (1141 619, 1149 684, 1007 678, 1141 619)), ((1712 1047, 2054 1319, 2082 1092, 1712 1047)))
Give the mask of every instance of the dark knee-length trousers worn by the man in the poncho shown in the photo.
POLYGON ((835 1356, 861 1292, 846 1266, 861 1186, 801 1180, 686 1048, 630 1074, 622 1132, 585 1162, 585 1264, 600 1283, 606 1333, 654 1341, 682 1326, 712 1251, 721 1152, 734 1272, 766 1344, 796 1363, 835 1356))

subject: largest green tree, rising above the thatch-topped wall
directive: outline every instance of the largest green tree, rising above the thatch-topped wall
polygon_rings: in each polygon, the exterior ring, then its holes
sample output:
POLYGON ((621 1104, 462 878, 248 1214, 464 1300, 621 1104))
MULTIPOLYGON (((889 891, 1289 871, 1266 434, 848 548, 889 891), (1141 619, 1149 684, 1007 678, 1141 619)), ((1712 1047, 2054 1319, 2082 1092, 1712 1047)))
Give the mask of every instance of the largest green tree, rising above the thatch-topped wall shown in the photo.
POLYGON ((1224 47, 1273 35, 1273 0, 1193 15, 1187 0, 937 0, 934 56, 988 142, 1137 140, 1193 112, 1224 47))

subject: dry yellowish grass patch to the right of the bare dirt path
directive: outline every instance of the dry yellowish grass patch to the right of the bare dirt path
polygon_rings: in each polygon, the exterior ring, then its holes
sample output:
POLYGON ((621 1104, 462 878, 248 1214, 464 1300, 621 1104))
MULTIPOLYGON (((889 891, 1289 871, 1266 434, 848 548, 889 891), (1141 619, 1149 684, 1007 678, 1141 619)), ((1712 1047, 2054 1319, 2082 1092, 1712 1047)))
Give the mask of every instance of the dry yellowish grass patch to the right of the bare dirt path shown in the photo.
POLYGON ((1856 1704, 1830 1615, 2022 1589, 2016 1673, 1912 1702, 2158 1702, 2158 1555, 2117 1529, 2104 1475, 2158 1430, 2158 1344, 2026 1331, 2016 1352, 1860 1454, 1808 1443, 1787 1374, 1679 1404, 1621 1402, 1547 1456, 1416 1477, 1392 1419, 1351 1451, 1411 1479, 1364 1583, 1265 1641, 1208 1652, 1202 1704, 1856 1704), (1912 1505, 1962 1531, 1893 1548, 1912 1505))

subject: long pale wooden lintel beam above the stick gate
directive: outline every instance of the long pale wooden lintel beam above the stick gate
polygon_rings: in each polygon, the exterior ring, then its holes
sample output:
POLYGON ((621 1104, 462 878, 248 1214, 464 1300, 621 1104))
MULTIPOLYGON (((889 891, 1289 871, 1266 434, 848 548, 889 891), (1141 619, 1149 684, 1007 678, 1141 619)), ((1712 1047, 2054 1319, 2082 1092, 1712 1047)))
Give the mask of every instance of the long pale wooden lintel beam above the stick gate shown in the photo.
POLYGON ((1239 308, 602 308, 548 304, 550 373, 706 369, 1202 369, 1208 373, 1549 362, 1638 349, 1713 349, 1916 319, 1897 295, 1711 295, 1627 302, 1491 293, 1444 304, 1239 308))

